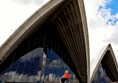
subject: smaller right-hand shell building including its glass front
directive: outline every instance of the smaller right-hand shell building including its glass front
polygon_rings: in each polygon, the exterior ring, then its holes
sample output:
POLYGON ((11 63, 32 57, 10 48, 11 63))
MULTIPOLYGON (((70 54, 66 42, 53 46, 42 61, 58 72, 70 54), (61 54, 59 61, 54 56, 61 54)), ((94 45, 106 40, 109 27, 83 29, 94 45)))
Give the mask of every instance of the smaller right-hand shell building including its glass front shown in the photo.
POLYGON ((111 45, 104 46, 91 62, 92 83, 112 83, 118 81, 118 66, 111 45))

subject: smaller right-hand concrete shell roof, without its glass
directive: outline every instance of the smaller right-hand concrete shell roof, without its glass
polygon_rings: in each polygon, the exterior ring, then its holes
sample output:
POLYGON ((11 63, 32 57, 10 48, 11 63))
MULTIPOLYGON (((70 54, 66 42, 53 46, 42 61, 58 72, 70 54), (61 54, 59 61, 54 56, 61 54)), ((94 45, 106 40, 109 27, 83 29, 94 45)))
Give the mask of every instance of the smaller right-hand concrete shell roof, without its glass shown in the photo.
POLYGON ((107 76, 111 81, 118 81, 118 66, 111 45, 104 46, 98 53, 98 56, 91 62, 90 79, 93 80, 96 71, 100 65, 104 66, 107 76), (109 71, 108 71, 109 70, 109 71))

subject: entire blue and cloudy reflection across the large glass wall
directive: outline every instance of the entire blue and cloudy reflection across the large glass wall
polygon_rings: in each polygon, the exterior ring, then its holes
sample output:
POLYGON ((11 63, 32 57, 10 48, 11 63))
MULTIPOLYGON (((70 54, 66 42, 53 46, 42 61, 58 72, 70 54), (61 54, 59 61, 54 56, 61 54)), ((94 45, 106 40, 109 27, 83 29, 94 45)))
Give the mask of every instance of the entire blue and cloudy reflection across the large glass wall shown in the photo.
POLYGON ((73 72, 52 49, 44 52, 43 48, 37 48, 11 64, 2 73, 0 80, 5 82, 60 82, 66 69, 71 74, 71 80, 78 83, 73 72))

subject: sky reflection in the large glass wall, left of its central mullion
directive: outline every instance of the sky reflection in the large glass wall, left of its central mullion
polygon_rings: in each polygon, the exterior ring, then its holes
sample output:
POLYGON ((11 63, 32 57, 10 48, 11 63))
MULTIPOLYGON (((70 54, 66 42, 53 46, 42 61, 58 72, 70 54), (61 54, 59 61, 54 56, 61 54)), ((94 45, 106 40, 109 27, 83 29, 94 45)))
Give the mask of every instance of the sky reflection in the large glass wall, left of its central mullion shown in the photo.
MULTIPOLYGON (((35 82, 39 80, 41 72, 42 48, 34 49, 19 60, 11 64, 2 77, 7 82, 35 82)), ((2 78, 0 78, 3 80, 2 78)))

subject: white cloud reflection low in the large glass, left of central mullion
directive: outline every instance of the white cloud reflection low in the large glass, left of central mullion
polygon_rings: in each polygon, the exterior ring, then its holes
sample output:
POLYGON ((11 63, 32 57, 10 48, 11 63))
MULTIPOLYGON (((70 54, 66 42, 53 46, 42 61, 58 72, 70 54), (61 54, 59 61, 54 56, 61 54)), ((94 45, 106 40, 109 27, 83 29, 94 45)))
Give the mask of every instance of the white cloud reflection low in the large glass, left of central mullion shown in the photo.
MULTIPOLYGON (((16 71, 10 71, 9 73, 5 73, 2 77, 8 82, 36 82, 40 80, 41 71, 37 72, 37 75, 24 75, 19 74, 16 71)), ((43 76, 42 76, 43 77, 43 76)), ((2 80, 2 79, 1 79, 2 80)))

